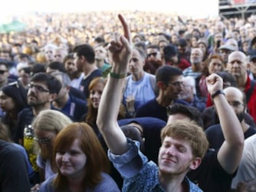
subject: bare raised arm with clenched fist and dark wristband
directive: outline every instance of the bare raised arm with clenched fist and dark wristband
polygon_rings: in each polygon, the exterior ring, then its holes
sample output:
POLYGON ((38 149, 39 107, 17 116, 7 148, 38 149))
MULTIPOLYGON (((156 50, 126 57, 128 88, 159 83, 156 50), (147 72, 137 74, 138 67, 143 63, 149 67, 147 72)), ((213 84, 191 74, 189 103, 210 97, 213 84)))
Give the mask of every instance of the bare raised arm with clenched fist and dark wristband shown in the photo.
MULTIPOLYGON (((220 76, 212 74, 207 78, 207 87, 211 95, 223 89, 223 80, 220 76)), ((241 123, 231 106, 229 106, 224 94, 216 94, 213 101, 218 112, 221 128, 225 138, 218 151, 218 161, 227 173, 236 171, 242 157, 244 148, 244 133, 241 123)))

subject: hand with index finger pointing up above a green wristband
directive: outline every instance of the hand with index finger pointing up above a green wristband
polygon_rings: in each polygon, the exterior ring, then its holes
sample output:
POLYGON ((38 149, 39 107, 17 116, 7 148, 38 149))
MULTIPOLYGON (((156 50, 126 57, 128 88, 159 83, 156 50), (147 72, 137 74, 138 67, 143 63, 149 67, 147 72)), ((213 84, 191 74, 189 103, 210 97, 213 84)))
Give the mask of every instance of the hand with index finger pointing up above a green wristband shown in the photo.
POLYGON ((121 14, 119 14, 118 17, 122 23, 124 35, 115 32, 113 35, 113 40, 111 40, 108 49, 111 52, 111 58, 113 61, 113 72, 126 73, 127 65, 132 52, 130 30, 126 20, 124 20, 124 17, 122 17, 121 14))

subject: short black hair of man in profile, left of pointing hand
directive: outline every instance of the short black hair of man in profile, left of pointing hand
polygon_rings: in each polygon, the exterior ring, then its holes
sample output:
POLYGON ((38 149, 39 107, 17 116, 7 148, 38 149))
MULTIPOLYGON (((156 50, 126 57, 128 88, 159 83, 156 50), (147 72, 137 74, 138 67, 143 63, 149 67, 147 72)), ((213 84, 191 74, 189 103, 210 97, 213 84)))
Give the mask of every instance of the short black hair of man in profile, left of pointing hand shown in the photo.
POLYGON ((93 64, 95 62, 95 51, 90 44, 80 44, 79 46, 75 46, 73 52, 75 52, 79 57, 85 57, 89 64, 93 64))

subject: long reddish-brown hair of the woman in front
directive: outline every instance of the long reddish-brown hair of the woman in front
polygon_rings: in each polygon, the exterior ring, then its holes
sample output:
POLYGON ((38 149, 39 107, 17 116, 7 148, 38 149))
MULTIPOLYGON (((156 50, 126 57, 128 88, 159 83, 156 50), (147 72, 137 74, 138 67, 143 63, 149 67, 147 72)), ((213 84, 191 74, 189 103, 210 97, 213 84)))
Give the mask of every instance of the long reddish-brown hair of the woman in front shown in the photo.
MULTIPOLYGON (((82 178, 83 188, 94 188, 101 182, 101 173, 108 173, 109 161, 92 127, 87 123, 71 123, 62 129, 54 141, 54 154, 69 149, 76 139, 79 140, 80 148, 87 157, 83 168, 85 171, 85 177, 82 178)), ((56 186, 57 191, 67 189, 67 178, 61 174, 60 170, 53 180, 53 185, 56 186)))

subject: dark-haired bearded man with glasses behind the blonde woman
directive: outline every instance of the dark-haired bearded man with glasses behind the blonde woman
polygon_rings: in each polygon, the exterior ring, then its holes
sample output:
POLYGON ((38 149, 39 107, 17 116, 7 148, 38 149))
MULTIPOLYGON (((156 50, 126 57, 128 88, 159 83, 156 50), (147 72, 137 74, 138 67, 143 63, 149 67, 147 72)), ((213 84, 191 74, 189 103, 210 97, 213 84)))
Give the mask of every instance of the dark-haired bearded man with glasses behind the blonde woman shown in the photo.
POLYGON ((19 113, 17 120, 17 130, 15 131, 15 142, 24 146, 35 172, 32 184, 39 182, 39 169, 36 165, 35 143, 33 141, 34 131, 32 127, 33 118, 40 111, 51 108, 51 101, 54 101, 61 90, 61 82, 47 73, 36 73, 33 75, 28 85, 28 104, 30 108, 25 108, 19 113))

